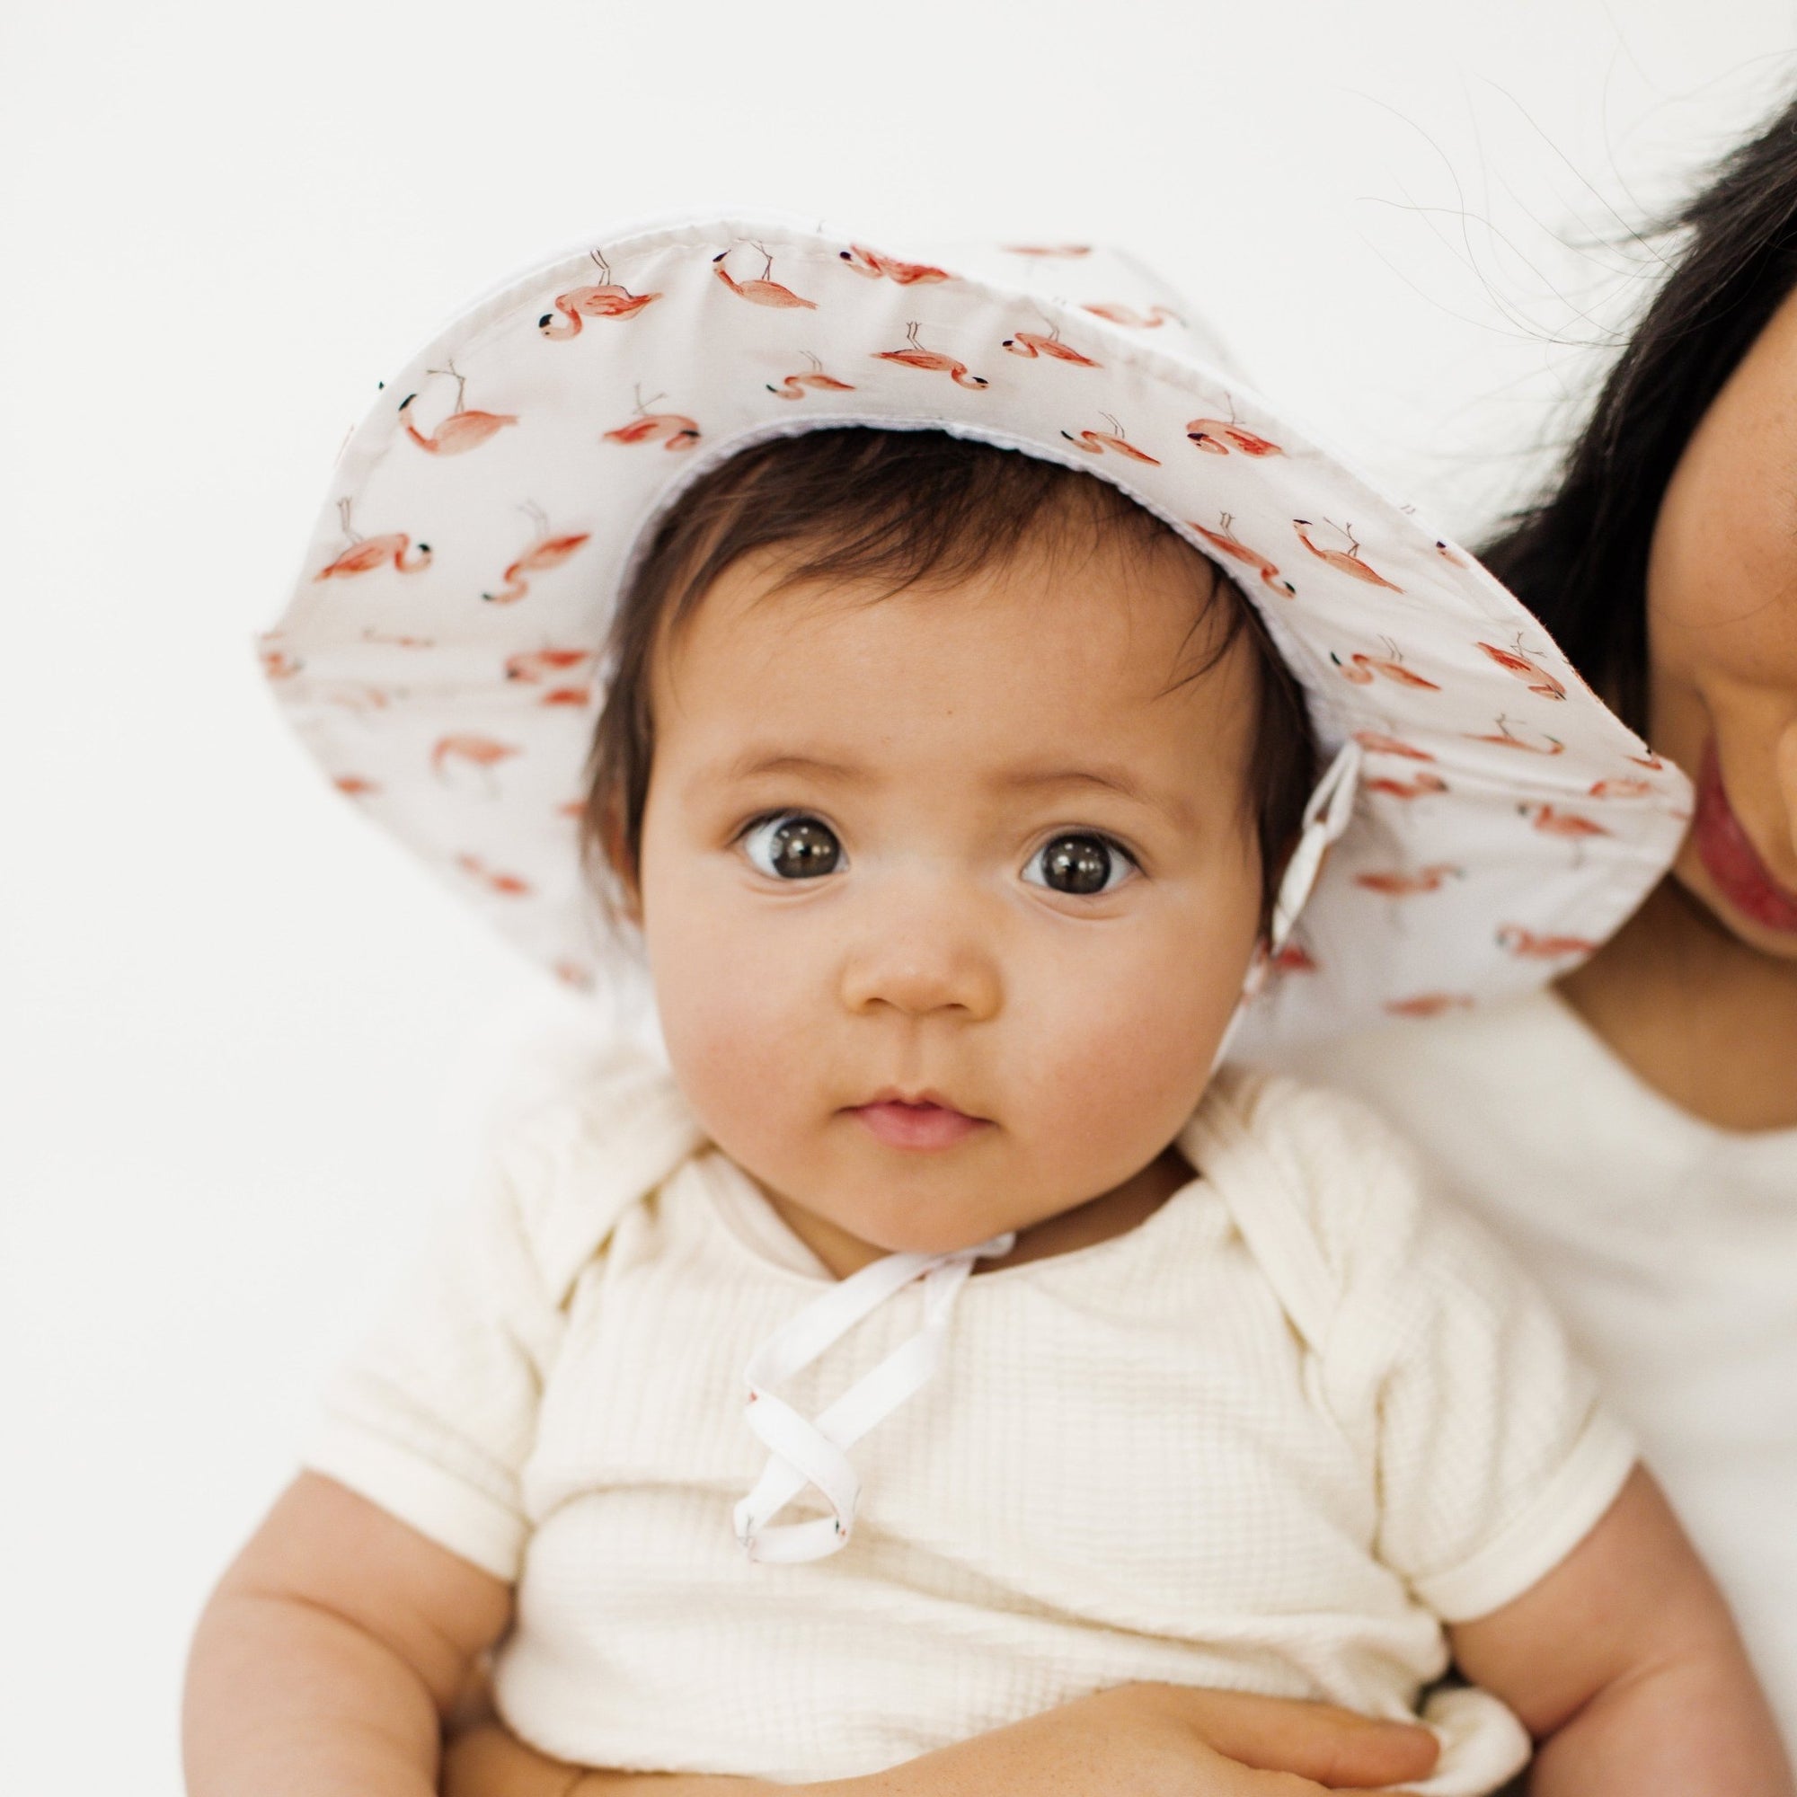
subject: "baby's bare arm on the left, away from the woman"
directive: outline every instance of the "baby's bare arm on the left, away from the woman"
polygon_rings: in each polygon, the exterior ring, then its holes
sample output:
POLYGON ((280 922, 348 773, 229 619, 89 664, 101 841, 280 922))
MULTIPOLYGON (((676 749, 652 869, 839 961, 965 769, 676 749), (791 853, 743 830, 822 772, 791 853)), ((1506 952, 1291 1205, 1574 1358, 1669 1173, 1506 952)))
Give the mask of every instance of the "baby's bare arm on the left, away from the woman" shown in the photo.
POLYGON ((433 1797, 442 1718, 510 1608, 491 1572, 300 1474, 199 1619, 189 1797, 433 1797))

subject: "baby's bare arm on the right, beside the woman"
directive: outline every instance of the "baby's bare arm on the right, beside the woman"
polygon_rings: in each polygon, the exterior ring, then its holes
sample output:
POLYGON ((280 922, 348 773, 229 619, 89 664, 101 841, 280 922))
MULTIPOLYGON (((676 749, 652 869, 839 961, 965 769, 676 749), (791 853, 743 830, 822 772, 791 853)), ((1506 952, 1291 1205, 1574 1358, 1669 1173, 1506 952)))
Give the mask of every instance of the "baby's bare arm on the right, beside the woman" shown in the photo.
POLYGON ((1793 1790, 1727 1605, 1639 1466, 1560 1565, 1450 1633, 1540 1743, 1533 1797, 1793 1790))

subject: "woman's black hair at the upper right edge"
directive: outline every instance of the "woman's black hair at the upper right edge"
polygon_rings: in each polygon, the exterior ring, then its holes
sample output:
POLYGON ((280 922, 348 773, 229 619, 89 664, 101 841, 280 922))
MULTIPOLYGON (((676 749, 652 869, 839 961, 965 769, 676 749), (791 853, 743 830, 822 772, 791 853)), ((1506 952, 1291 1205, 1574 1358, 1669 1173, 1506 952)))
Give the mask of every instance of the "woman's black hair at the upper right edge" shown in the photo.
POLYGON ((1648 548, 1660 500, 1711 401, 1797 288, 1797 101, 1739 146, 1666 230, 1686 241, 1558 487, 1483 552, 1642 733, 1648 548))

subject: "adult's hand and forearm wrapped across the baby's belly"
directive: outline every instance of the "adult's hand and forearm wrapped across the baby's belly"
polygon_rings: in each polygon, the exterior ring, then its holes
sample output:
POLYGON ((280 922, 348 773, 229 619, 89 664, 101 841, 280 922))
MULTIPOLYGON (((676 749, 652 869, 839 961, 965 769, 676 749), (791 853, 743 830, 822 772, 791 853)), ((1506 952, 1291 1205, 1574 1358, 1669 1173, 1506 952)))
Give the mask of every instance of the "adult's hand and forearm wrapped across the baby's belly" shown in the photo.
MULTIPOLYGON (((1427 1777, 1427 1729, 1326 1704, 1120 1686, 807 1797, 1326 1797, 1427 1777)), ((444 1797, 766 1797, 755 1779, 586 1772, 485 1722, 449 1743, 444 1797)))

